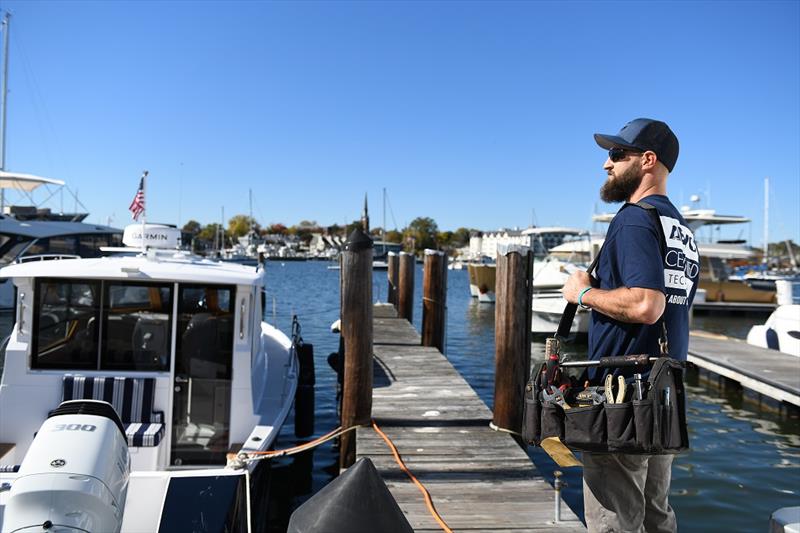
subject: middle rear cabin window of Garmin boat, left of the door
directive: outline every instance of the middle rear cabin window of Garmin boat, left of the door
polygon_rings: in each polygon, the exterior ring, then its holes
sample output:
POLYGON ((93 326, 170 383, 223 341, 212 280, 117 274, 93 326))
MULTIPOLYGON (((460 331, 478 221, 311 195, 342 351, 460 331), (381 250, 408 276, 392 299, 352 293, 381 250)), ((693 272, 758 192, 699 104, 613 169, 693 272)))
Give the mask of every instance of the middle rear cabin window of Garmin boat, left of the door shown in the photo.
POLYGON ((100 368, 169 370, 172 286, 105 284, 100 368))

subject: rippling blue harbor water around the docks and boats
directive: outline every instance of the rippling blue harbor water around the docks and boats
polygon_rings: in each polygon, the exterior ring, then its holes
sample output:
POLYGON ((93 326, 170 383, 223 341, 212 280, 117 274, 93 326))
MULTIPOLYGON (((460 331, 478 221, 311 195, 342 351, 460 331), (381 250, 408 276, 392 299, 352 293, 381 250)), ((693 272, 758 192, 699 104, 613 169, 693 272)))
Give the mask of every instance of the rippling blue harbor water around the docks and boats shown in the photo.
MULTIPOLYGON (((375 272, 374 299, 386 300, 386 272, 375 272)), ((414 325, 422 319, 422 270, 417 268, 414 325)), ((494 387, 494 306, 478 304, 469 296, 467 272, 448 272, 446 353, 478 395, 491 407, 494 387)), ((297 315, 302 336, 314 345, 316 362, 316 432, 338 425, 335 406, 336 376, 326 362, 338 348, 330 324, 339 317, 339 272, 327 263, 270 262, 267 265, 267 316, 287 332, 297 315)), ((742 337, 758 317, 698 317, 695 327, 742 337)), ((7 328, 7 326, 6 326, 7 328)), ((5 328, 4 328, 5 329, 5 328)), ((541 358, 544 344, 532 347, 541 358)), ((567 351, 585 353, 585 345, 567 351)), ((0 362, 0 364, 2 364, 0 362)), ((692 450, 678 456, 673 469, 670 501, 681 531, 764 531, 775 509, 800 505, 800 421, 759 412, 742 403, 741 395, 725 395, 696 381, 689 388, 689 429, 692 450)), ((289 423, 278 448, 299 442, 289 423)), ((402 452, 402 450, 401 450, 402 452)), ((552 482, 555 468, 538 449, 529 449, 536 466, 552 482)), ((273 467, 270 531, 284 531, 292 510, 330 482, 338 471, 331 443, 313 452, 276 461, 273 467)), ((565 473, 564 496, 583 515, 579 469, 565 473)))

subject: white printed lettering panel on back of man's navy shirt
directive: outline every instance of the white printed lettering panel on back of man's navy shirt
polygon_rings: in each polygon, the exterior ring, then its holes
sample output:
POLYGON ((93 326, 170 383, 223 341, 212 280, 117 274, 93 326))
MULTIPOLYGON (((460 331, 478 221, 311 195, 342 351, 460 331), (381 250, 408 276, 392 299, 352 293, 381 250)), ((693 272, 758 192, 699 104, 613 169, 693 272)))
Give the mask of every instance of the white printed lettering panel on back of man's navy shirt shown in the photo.
POLYGON ((664 257, 664 285, 669 291, 667 303, 686 305, 692 288, 700 275, 700 256, 694 234, 680 221, 660 216, 661 227, 667 240, 664 257))

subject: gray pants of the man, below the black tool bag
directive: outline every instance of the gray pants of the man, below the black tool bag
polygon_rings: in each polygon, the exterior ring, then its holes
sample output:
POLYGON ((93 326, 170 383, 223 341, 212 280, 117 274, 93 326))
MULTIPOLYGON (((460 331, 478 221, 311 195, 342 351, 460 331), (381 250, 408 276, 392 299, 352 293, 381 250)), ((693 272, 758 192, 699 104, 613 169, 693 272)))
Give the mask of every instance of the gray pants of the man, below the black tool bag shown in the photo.
POLYGON ((674 533, 671 455, 583 454, 589 533, 674 533))

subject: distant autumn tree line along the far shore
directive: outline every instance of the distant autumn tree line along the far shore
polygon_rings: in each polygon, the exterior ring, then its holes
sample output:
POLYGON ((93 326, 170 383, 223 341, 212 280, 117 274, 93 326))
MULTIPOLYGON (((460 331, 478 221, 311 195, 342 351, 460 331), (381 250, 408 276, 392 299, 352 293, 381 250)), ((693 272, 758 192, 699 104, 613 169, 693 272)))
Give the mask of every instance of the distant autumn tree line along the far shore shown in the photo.
MULTIPOLYGON (((361 227, 360 220, 355 220, 346 226, 340 226, 339 224, 321 226, 314 220, 302 220, 293 226, 286 226, 281 223, 262 226, 253 217, 236 215, 228 220, 228 226, 224 228, 217 222, 202 225, 196 220, 190 220, 184 224, 181 231, 191 237, 195 250, 209 250, 215 245, 220 246, 220 236, 223 238, 222 246, 224 247, 230 246, 239 237, 244 237, 250 233, 262 238, 268 235, 296 238, 303 244, 308 245, 314 234, 346 239, 356 227, 361 227)), ((469 245, 469 236, 472 231, 474 230, 469 228, 441 231, 436 221, 432 218, 417 217, 403 229, 386 230, 385 239, 387 243, 402 244, 403 249, 407 252, 420 252, 426 248, 450 252, 469 245)), ((382 234, 382 228, 370 228, 370 235, 373 239, 380 240, 382 234)))

